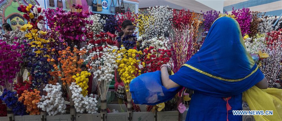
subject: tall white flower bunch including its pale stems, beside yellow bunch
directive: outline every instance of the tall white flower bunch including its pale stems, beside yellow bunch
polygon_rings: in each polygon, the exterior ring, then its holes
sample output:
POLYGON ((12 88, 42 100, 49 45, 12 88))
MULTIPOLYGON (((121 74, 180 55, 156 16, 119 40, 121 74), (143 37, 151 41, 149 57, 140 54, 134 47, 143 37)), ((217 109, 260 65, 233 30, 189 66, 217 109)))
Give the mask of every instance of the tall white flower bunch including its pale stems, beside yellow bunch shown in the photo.
POLYGON ((108 45, 102 46, 102 51, 94 50, 95 46, 92 44, 87 45, 86 61, 89 65, 86 65, 89 69, 88 71, 95 78, 95 83, 97 84, 98 91, 101 95, 101 99, 106 99, 107 91, 109 89, 110 83, 114 78, 115 69, 118 68, 116 63, 118 47, 108 45))

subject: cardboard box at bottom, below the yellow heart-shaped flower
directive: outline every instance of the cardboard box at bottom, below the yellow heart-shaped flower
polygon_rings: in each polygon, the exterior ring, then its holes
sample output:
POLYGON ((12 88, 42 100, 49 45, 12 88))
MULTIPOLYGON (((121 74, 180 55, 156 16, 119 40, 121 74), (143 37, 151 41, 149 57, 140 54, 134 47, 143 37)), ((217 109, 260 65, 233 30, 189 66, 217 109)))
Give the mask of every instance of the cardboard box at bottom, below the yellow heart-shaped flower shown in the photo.
POLYGON ((178 111, 157 112, 157 121, 178 121, 178 111))

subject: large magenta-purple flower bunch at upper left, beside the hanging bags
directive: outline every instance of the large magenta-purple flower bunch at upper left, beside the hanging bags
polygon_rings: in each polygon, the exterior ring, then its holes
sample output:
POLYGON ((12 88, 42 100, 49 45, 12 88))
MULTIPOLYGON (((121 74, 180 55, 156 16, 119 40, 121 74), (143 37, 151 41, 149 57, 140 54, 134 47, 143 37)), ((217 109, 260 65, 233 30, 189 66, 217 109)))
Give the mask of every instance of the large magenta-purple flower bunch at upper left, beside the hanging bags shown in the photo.
POLYGON ((47 25, 55 28, 59 32, 59 39, 72 48, 86 41, 86 34, 89 31, 86 26, 93 23, 92 20, 87 20, 93 13, 85 13, 82 9, 81 5, 72 5, 71 11, 67 13, 63 8, 56 8, 56 12, 49 8, 45 12, 46 16, 49 16, 47 25))

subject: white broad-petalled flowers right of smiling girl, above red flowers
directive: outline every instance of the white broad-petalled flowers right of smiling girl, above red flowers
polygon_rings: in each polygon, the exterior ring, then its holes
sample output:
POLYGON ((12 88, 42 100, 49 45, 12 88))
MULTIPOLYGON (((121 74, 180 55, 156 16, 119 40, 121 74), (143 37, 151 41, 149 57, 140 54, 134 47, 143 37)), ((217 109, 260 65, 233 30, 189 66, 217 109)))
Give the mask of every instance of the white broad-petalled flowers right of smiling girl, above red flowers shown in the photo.
POLYGON ((168 39, 166 39, 164 36, 161 37, 154 37, 149 40, 143 40, 144 36, 138 37, 138 41, 141 42, 141 47, 140 48, 147 48, 149 46, 154 47, 155 49, 166 49, 166 44, 168 39))

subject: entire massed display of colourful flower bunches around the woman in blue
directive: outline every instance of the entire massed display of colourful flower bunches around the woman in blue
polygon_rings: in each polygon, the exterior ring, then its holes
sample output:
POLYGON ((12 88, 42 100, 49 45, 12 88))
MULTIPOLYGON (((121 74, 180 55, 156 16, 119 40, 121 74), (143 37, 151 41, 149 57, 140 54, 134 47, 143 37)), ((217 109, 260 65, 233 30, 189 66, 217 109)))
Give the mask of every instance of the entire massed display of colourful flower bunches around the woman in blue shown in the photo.
POLYGON ((185 88, 170 102, 144 106, 134 104, 129 84, 140 74, 160 70, 162 64, 169 63, 177 72, 201 48, 204 38, 199 38, 223 16, 238 21, 246 50, 270 87, 282 70, 281 18, 274 26, 269 23, 275 18, 248 8, 198 14, 156 6, 147 9, 148 15, 104 17, 84 12, 81 5, 65 12, 29 4, 18 11, 28 23, 10 32, 9 38, 0 34, 0 115, 6 116, 0 120, 184 120, 185 101, 190 100, 185 88), (126 19, 138 32, 118 36, 126 19), (97 91, 88 91, 88 83, 95 83, 97 91), (118 88, 121 94, 116 96, 125 104, 107 104, 110 85, 118 88))

